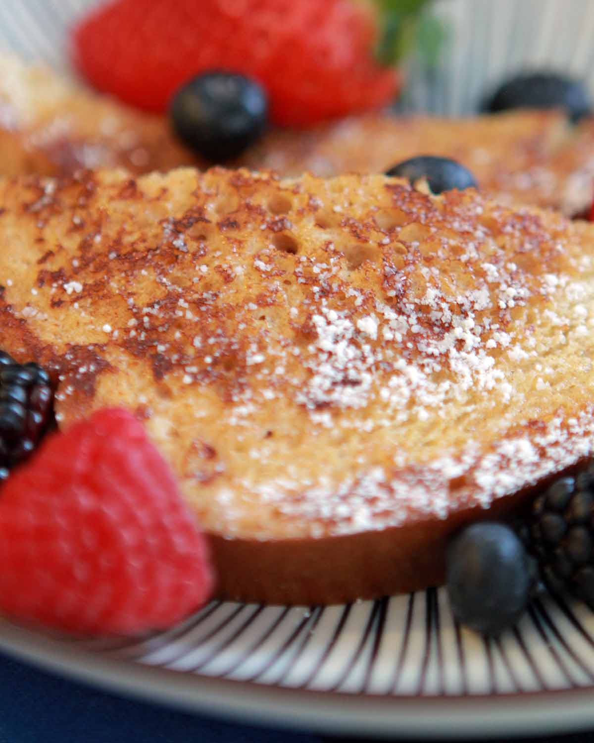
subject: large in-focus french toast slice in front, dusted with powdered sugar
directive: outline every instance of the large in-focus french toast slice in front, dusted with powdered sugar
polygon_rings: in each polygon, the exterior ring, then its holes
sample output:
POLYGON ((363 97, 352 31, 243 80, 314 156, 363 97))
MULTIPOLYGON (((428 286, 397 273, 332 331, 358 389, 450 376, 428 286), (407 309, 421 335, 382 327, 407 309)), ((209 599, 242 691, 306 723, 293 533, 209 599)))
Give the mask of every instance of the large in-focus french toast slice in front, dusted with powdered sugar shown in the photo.
POLYGON ((443 581, 594 447, 594 227, 382 175, 0 181, 0 347, 146 424, 218 594, 443 581))

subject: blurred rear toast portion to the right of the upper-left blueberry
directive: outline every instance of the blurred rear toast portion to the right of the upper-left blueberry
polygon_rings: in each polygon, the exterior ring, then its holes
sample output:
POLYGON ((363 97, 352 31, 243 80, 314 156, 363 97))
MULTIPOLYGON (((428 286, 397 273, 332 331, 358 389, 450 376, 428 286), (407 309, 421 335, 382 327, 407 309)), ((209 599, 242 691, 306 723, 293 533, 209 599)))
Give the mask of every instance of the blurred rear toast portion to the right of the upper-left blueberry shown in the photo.
POLYGON ((571 214, 592 198, 584 179, 572 186, 571 201, 566 195, 567 180, 581 167, 584 149, 594 157, 594 142, 589 145, 575 148, 561 111, 515 110, 460 119, 366 114, 309 131, 272 132, 241 164, 284 175, 310 171, 330 176, 381 173, 416 155, 440 155, 463 163, 480 188, 500 201, 571 214), (567 153, 563 158, 557 155, 560 149, 567 153))

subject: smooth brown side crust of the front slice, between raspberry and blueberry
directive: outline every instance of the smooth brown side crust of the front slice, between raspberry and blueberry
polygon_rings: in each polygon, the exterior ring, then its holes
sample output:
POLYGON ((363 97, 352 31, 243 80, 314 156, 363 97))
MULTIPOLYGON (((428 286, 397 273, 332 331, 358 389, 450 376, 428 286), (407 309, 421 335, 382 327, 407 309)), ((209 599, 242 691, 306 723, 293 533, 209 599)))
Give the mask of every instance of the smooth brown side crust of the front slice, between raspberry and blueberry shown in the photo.
POLYGON ((488 509, 472 507, 447 519, 432 516, 383 531, 263 542, 209 535, 217 574, 215 595, 255 603, 313 605, 441 585, 454 533, 469 522, 506 519, 521 510, 535 490, 530 487, 497 499, 488 509))

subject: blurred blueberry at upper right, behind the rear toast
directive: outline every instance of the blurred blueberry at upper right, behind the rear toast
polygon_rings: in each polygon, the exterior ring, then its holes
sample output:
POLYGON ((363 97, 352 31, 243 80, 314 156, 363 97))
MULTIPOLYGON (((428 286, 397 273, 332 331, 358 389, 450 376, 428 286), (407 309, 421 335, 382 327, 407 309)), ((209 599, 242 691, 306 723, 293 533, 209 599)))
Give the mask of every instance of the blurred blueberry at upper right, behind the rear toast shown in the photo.
POLYGON ((484 111, 509 108, 564 108, 572 121, 590 114, 586 88, 555 72, 532 72, 503 82, 484 103, 484 111))

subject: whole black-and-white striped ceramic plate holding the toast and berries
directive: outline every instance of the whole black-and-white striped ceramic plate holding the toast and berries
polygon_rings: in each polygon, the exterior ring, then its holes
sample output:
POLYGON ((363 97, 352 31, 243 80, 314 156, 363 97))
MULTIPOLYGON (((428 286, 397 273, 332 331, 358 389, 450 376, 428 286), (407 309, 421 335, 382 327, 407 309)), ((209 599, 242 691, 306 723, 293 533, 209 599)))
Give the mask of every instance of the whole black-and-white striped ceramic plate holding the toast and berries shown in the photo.
MULTIPOLYGON (((66 29, 88 0, 1 0, 0 50, 68 69, 66 29)), ((411 71, 399 104, 463 114, 511 71, 581 74, 594 91, 590 0, 442 0, 452 43, 411 71)), ((395 566, 395 569, 397 566, 395 566)), ((594 615, 546 598, 485 640, 445 591, 348 606, 211 603, 142 640, 76 640, 0 621, 0 647, 99 684, 258 723, 377 736, 551 733, 594 726, 594 615)))

